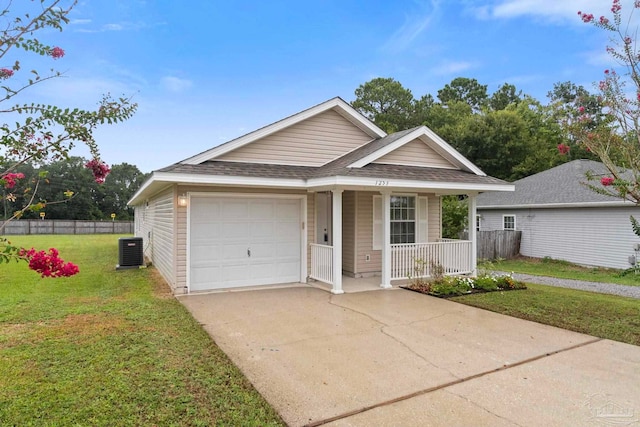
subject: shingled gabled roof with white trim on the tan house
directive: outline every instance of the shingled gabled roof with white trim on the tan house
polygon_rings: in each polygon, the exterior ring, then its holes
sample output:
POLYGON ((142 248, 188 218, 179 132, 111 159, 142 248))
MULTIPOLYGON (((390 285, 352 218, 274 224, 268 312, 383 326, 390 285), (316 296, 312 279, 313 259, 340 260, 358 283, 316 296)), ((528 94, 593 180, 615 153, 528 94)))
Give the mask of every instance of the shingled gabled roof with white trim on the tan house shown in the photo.
POLYGON ((153 172, 134 194, 129 204, 139 204, 167 185, 175 183, 307 190, 337 186, 375 189, 385 186, 389 189, 423 189, 438 191, 442 194, 513 191, 511 184, 486 176, 427 127, 419 126, 386 135, 340 98, 330 99, 226 144, 153 172), (372 136, 372 140, 319 166, 218 159, 227 152, 322 114, 329 109, 338 112, 363 132, 372 136), (377 159, 416 140, 427 144, 452 167, 375 163, 377 159))

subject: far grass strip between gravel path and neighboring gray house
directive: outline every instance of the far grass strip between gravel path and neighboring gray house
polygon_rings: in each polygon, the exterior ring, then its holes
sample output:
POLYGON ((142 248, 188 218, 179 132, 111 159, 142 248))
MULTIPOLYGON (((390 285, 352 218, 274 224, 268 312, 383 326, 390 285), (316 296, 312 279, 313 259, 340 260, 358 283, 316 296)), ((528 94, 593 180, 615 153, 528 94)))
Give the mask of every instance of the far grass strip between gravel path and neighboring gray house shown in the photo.
POLYGON ((514 273, 534 274, 538 276, 559 277, 562 279, 586 280, 588 282, 616 283, 619 285, 640 286, 640 274, 621 275, 621 270, 600 267, 582 267, 566 261, 549 258, 526 258, 484 262, 480 269, 500 270, 514 273))

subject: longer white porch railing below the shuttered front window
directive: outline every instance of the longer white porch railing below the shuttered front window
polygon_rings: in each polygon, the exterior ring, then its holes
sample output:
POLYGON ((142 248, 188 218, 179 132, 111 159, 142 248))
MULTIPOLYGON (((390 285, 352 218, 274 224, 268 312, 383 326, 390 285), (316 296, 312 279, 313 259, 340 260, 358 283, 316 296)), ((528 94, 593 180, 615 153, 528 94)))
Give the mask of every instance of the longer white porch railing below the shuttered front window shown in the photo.
POLYGON ((471 241, 391 245, 391 280, 429 277, 439 267, 445 275, 472 273, 471 241))

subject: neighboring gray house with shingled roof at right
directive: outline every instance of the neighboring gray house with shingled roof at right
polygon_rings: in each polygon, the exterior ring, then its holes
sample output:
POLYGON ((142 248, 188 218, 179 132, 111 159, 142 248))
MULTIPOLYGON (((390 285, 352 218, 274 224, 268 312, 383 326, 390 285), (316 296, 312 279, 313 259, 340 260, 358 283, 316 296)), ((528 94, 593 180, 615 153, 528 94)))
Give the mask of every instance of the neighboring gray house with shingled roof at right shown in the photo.
POLYGON ((574 160, 514 182, 513 193, 480 194, 477 229, 522 231, 524 256, 629 268, 629 256, 640 243, 629 216, 640 220, 640 209, 589 189, 584 185, 588 171, 609 176, 602 163, 574 160))

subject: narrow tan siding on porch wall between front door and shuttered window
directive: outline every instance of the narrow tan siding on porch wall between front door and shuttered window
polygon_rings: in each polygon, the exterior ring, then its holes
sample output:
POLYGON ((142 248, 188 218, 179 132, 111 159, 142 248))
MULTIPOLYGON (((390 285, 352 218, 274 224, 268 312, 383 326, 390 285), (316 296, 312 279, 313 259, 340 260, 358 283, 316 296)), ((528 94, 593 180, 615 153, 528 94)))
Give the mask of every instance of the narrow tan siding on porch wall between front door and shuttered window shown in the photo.
POLYGON ((355 269, 356 276, 361 274, 380 273, 382 269, 382 251, 373 250, 373 196, 370 191, 359 191, 356 193, 356 253, 355 269), (370 260, 366 261, 366 256, 370 260))

